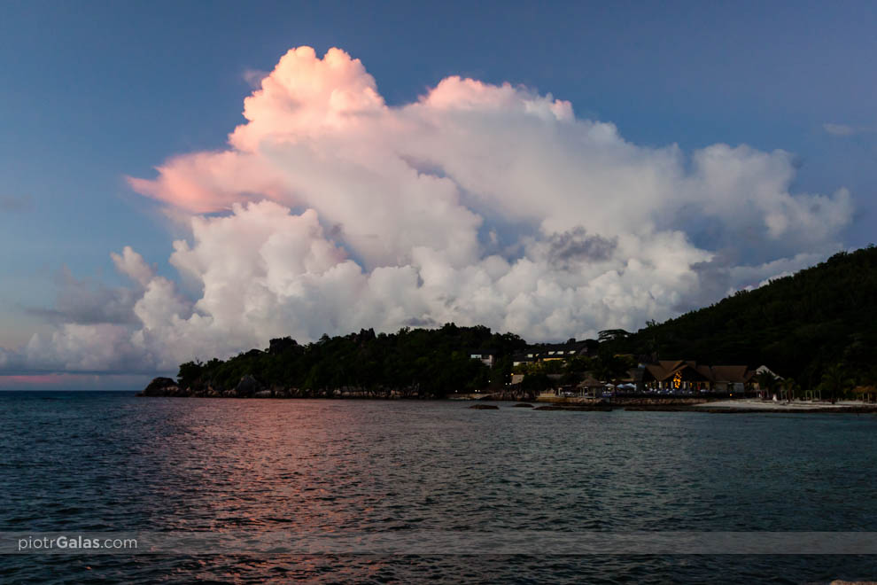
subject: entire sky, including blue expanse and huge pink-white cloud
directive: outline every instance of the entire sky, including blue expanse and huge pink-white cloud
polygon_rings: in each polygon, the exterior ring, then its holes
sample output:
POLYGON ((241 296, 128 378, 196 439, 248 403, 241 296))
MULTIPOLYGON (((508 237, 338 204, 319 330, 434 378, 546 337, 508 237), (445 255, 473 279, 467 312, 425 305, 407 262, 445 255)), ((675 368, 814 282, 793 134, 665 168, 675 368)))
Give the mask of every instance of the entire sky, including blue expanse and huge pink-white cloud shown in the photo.
POLYGON ((582 339, 865 246, 875 29, 854 2, 5 2, 0 389, 361 327, 582 339))

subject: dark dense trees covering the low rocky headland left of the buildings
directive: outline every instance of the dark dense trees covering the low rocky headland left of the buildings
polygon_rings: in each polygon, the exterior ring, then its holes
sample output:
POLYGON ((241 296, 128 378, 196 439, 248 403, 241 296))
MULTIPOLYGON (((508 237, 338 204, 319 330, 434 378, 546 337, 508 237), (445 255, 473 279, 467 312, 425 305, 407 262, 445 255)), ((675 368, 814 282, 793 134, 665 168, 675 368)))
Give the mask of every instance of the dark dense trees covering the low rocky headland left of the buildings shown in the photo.
POLYGON ((272 339, 268 349, 252 349, 225 362, 183 363, 182 387, 225 390, 244 375, 265 386, 294 387, 320 396, 340 392, 382 396, 390 393, 442 396, 499 386, 511 371, 511 355, 526 347, 524 339, 488 328, 446 324, 434 330, 373 330, 299 345, 294 339, 272 339), (471 354, 493 350, 502 357, 493 370, 471 354))

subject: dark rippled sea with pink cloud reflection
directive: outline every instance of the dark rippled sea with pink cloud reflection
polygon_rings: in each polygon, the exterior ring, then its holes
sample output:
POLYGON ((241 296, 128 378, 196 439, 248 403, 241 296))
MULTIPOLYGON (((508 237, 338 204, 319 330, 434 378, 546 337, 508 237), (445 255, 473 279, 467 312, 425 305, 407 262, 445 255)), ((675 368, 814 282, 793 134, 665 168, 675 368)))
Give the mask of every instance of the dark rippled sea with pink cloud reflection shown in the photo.
POLYGON ((496 404, 0 393, 0 581, 877 580, 877 415, 496 404))

